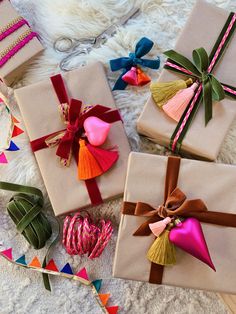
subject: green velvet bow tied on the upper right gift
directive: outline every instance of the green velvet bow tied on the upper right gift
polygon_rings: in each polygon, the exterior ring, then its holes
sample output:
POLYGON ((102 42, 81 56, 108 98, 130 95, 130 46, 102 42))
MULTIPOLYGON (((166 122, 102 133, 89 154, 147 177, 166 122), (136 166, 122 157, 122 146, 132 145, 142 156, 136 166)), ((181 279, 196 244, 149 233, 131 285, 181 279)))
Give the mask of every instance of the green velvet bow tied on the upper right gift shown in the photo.
POLYGON ((212 102, 225 98, 225 92, 221 83, 211 73, 213 66, 204 48, 194 49, 192 53, 193 63, 174 50, 168 50, 164 54, 173 62, 181 65, 189 71, 189 75, 195 77, 203 89, 203 104, 205 108, 205 124, 212 118, 212 102))

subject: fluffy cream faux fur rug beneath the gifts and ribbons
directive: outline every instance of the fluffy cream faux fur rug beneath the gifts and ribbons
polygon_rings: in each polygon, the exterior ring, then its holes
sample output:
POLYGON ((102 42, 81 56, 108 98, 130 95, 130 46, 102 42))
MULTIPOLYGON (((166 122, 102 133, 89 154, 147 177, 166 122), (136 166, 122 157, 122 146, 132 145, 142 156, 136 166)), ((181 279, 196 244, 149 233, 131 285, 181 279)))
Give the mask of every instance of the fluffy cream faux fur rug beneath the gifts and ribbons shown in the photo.
MULTIPOLYGON (((59 36, 80 38, 97 35, 136 5, 141 7, 140 16, 119 28, 117 34, 109 38, 101 48, 93 50, 87 56, 75 57, 70 62, 70 66, 75 67, 85 60, 102 61, 107 67, 109 82, 113 85, 118 73, 110 72, 108 60, 126 56, 134 49, 135 43, 141 36, 147 36, 156 43, 150 55, 152 57, 173 48, 195 0, 137 2, 132 0, 12 0, 11 2, 29 20, 46 47, 43 56, 32 64, 28 73, 18 83, 18 86, 22 86, 42 80, 59 71, 58 63, 63 54, 53 50, 53 42, 59 36)), ((211 0, 211 2, 231 11, 236 10, 235 0, 211 0)), ((149 71, 149 74, 152 78, 157 78, 159 71, 149 71)), ((132 149, 167 154, 164 148, 151 144, 136 133, 135 122, 148 95, 148 87, 127 88, 125 91, 114 92, 132 149)), ((11 90, 9 90, 9 97, 11 109, 17 117, 21 118, 11 90)), ((225 139, 218 162, 236 162, 235 140, 236 122, 225 139)), ((8 155, 10 163, 0 168, 1 180, 29 184, 42 189, 46 197, 46 210, 48 214, 52 214, 39 169, 30 151, 27 134, 17 137, 16 143, 21 150, 8 155)), ((10 194, 1 192, 0 239, 4 241, 5 247, 13 246, 15 257, 26 254, 27 260, 30 261, 36 252, 16 232, 13 222, 6 213, 6 202, 9 197, 10 194)), ((102 257, 94 262, 78 256, 70 257, 58 244, 52 254, 58 266, 63 266, 66 262, 71 263, 74 270, 86 266, 91 277, 106 278, 102 291, 111 292, 111 304, 119 304, 120 313, 227 313, 225 306, 214 293, 112 279, 112 261, 121 201, 119 199, 91 209, 97 217, 109 217, 115 226, 113 239, 102 257)), ((42 258, 45 251, 46 249, 37 253, 42 258)), ((0 263, 0 313, 100 313, 86 287, 69 280, 52 278, 54 289, 52 293, 48 293, 43 288, 40 274, 14 267, 3 259, 0 263)))

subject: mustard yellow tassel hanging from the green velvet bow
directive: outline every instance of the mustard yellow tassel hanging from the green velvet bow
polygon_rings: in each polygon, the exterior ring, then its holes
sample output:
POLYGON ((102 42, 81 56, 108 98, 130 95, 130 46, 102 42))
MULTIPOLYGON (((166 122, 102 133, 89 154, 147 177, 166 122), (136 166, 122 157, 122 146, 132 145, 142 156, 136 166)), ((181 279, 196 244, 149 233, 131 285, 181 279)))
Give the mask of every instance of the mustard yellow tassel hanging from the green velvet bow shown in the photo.
POLYGON ((162 107, 171 99, 179 90, 187 88, 193 83, 191 78, 170 82, 153 82, 150 85, 152 97, 158 107, 162 107))

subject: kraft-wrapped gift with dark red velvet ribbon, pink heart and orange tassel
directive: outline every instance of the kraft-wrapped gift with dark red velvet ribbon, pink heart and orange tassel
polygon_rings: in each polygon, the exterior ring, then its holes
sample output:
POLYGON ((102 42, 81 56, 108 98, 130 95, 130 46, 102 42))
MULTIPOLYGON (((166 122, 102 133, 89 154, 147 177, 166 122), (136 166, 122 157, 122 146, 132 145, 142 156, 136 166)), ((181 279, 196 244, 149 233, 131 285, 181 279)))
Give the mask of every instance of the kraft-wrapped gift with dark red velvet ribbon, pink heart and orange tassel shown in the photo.
POLYGON ((130 147, 101 63, 18 89, 15 96, 56 215, 123 194, 130 147), (94 138, 100 140, 108 125, 97 147, 94 138))

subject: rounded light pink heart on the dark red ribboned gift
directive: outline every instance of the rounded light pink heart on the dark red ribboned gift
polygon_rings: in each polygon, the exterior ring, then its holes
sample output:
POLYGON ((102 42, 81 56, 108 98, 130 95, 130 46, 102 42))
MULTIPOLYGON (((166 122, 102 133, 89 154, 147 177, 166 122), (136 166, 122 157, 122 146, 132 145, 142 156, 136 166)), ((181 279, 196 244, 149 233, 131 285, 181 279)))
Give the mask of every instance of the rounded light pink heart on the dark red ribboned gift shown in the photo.
POLYGON ((109 123, 97 117, 88 117, 84 121, 85 135, 94 146, 100 146, 106 141, 110 128, 109 123))

